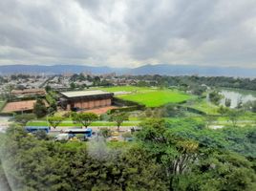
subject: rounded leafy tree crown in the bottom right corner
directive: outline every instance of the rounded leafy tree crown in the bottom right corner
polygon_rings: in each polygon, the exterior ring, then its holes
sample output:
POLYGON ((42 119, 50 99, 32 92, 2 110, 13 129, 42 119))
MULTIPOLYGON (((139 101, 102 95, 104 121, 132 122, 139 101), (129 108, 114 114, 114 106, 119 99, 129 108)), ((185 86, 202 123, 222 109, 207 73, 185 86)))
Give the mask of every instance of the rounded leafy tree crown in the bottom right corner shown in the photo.
POLYGON ((198 159, 191 173, 179 177, 174 190, 254 190, 251 165, 235 153, 212 151, 198 159))

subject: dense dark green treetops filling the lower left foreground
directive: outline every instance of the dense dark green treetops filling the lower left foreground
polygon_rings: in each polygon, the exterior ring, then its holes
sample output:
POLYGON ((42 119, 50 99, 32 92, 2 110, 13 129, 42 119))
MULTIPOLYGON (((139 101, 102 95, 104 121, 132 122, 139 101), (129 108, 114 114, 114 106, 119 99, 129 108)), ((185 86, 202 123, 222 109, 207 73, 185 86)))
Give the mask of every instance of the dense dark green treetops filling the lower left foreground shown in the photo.
POLYGON ((17 127, 7 136, 1 154, 13 190, 166 190, 160 165, 140 147, 61 144, 17 127))

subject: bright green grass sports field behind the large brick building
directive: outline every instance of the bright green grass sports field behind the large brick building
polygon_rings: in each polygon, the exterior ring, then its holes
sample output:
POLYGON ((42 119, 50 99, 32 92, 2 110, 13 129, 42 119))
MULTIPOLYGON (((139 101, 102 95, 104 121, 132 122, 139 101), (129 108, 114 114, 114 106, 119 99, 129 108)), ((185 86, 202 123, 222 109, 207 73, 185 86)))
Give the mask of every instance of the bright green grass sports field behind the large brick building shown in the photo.
POLYGON ((150 87, 117 86, 103 88, 108 92, 127 92, 128 94, 119 95, 118 98, 135 101, 146 107, 159 107, 167 103, 180 103, 193 96, 181 93, 177 90, 156 89, 150 87))

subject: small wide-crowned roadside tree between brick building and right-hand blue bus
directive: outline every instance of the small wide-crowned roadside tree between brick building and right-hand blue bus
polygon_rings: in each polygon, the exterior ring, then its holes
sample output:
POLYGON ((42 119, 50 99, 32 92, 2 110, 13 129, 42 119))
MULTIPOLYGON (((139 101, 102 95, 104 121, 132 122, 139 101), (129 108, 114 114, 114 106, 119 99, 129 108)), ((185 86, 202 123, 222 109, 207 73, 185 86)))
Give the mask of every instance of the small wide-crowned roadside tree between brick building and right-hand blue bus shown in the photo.
POLYGON ((87 128, 93 121, 96 121, 98 117, 95 113, 73 113, 72 119, 75 123, 81 123, 82 126, 87 128))

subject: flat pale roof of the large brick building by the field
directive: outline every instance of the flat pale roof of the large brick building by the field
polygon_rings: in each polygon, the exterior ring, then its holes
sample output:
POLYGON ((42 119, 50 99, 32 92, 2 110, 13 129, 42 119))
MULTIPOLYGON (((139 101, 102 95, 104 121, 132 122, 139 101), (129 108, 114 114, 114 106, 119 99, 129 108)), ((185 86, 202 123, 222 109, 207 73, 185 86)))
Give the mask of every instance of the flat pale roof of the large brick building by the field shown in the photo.
POLYGON ((110 95, 112 93, 104 92, 101 90, 94 90, 94 91, 75 91, 75 92, 61 92, 60 93, 66 97, 76 97, 76 96, 99 96, 99 95, 110 95))

